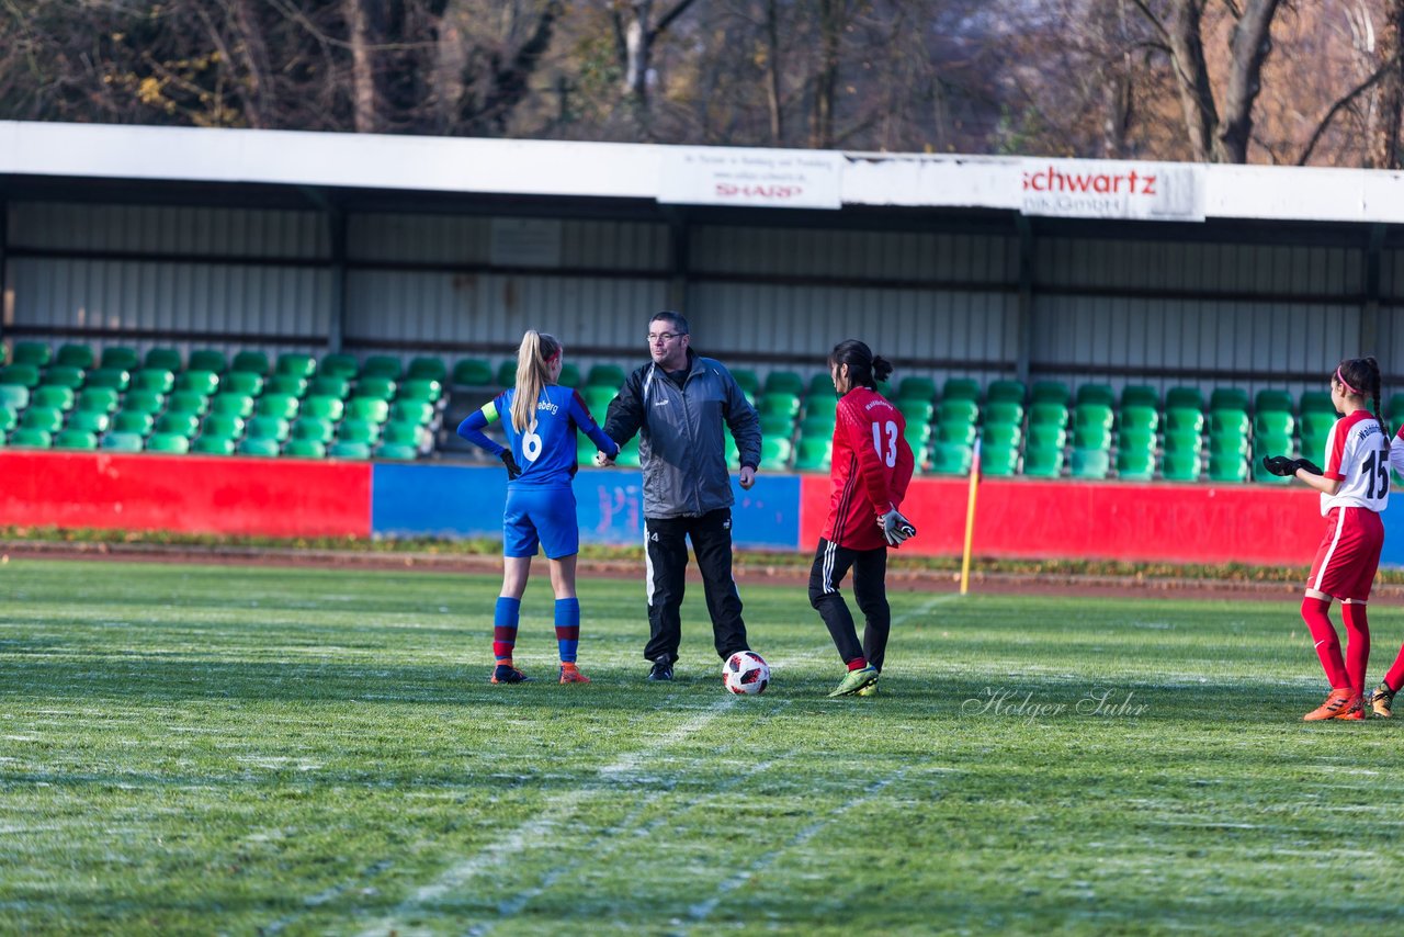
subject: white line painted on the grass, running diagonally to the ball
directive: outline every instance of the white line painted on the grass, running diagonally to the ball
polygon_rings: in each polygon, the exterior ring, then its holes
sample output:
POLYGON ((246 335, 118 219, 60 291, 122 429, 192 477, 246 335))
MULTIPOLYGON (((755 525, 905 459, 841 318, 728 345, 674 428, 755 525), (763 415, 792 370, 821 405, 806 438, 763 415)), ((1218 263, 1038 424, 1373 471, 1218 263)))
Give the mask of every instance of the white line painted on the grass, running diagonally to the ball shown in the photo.
MULTIPOLYGON (((789 667, 797 664, 800 660, 816 656, 817 652, 802 655, 799 657, 790 657, 782 662, 776 662, 775 667, 789 667)), ((612 785, 618 784, 622 775, 628 775, 635 771, 640 761, 657 756, 663 749, 673 746, 689 735, 699 732, 706 728, 713 719, 716 719, 722 712, 730 709, 737 702, 736 697, 723 697, 717 702, 713 702, 706 709, 692 716, 682 725, 664 732, 657 738, 657 742, 639 752, 630 752, 623 754, 614 764, 607 764, 600 768, 600 780, 592 787, 581 787, 574 791, 566 791, 557 795, 555 799, 548 801, 546 808, 542 815, 536 819, 522 823, 511 833, 507 833, 504 839, 486 847, 476 856, 470 856, 456 865, 451 867, 432 884, 424 885, 417 889, 413 895, 400 902, 400 906, 390 912, 390 916, 382 917, 373 924, 361 930, 361 937, 379 937, 388 931, 399 931, 402 927, 396 926, 403 917, 411 916, 421 910, 425 905, 438 900, 444 895, 465 884, 472 881, 480 872, 501 865, 507 858, 515 857, 517 853, 526 846, 534 837, 539 837, 542 833, 557 826, 562 820, 570 818, 577 808, 595 797, 609 794, 612 785)))

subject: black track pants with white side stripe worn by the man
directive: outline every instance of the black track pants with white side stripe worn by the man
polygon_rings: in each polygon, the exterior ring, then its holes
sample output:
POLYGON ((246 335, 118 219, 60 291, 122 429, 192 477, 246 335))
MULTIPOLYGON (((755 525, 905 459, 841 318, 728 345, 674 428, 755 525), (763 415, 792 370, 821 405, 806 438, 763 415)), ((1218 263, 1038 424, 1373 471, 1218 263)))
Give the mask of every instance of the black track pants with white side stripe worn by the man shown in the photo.
POLYGON ((706 610, 712 615, 712 636, 717 656, 726 660, 747 650, 741 596, 731 579, 731 510, 722 507, 701 517, 649 517, 644 520, 647 548, 649 643, 643 656, 678 659, 682 641, 682 593, 688 569, 688 538, 702 573, 706 610))

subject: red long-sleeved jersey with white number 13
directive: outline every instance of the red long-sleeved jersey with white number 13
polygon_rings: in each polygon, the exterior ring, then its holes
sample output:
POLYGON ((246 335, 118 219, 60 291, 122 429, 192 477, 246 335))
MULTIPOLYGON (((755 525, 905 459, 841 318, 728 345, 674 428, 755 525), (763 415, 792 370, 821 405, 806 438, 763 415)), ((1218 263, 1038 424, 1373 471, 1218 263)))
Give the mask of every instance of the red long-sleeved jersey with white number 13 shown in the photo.
POLYGON ((886 545, 878 516, 901 506, 915 464, 906 431, 907 420, 876 391, 854 388, 838 399, 824 539, 849 549, 886 545))

